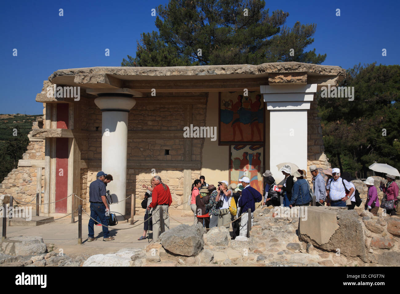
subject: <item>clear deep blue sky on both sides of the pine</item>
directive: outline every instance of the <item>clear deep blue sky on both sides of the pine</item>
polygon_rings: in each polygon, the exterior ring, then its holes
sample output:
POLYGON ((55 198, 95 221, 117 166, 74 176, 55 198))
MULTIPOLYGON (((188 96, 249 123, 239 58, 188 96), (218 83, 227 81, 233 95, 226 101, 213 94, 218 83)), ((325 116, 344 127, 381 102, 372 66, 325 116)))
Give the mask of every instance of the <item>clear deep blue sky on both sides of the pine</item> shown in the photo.
MULTIPOLYGON (((168 0, 17 1, 0 9, 0 113, 41 114, 35 102, 54 71, 120 66, 135 56, 140 33, 156 30, 151 9, 168 0), (64 10, 64 16, 58 10, 64 10), (16 48, 18 56, 13 56, 16 48), (110 49, 110 56, 104 50, 110 49)), ((270 13, 289 12, 286 25, 315 23, 307 49, 327 54, 325 65, 399 64, 400 1, 266 1, 270 13), (326 2, 326 3, 325 3, 326 2), (336 16, 336 8, 341 16, 336 16), (387 56, 382 56, 386 48, 387 56)))

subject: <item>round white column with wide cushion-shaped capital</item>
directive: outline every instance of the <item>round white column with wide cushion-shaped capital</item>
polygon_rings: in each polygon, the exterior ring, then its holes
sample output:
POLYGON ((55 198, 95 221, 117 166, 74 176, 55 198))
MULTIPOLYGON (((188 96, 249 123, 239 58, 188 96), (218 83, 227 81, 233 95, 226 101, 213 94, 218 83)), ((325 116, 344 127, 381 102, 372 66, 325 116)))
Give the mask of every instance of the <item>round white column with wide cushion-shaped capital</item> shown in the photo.
MULTIPOLYGON (((107 94, 94 100, 102 110, 102 171, 112 174, 107 185, 112 202, 126 198, 126 150, 128 144, 128 114, 136 104, 124 94, 107 94), (114 96, 115 95, 115 96, 114 96)), ((124 220, 126 201, 110 205, 118 220, 124 220)))

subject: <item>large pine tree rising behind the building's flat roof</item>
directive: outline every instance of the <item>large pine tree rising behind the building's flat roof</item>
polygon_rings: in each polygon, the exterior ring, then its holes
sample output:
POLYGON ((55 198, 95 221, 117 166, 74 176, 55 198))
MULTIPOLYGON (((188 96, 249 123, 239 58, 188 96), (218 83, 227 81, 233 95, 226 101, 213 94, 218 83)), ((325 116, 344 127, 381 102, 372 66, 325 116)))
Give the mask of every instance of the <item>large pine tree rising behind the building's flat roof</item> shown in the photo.
POLYGON ((158 6, 158 32, 141 34, 136 57, 122 66, 195 66, 307 62, 320 64, 326 54, 304 49, 314 42, 316 25, 284 24, 287 12, 269 14, 262 0, 170 0, 158 6), (244 9, 248 16, 244 16, 244 9), (161 16, 161 18, 159 17, 161 16), (202 56, 198 56, 198 49, 202 56), (294 56, 290 56, 294 49, 294 56))

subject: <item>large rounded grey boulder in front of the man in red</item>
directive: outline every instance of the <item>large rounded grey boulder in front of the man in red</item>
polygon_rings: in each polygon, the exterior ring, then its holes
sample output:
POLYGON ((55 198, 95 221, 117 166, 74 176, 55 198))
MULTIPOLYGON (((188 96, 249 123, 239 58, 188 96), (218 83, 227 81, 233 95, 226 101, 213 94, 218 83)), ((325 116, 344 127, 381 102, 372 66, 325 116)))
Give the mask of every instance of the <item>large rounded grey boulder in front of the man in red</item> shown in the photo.
POLYGON ((195 256, 204 246, 204 228, 197 223, 193 226, 181 224, 162 233, 157 242, 160 242, 165 250, 183 256, 195 256))

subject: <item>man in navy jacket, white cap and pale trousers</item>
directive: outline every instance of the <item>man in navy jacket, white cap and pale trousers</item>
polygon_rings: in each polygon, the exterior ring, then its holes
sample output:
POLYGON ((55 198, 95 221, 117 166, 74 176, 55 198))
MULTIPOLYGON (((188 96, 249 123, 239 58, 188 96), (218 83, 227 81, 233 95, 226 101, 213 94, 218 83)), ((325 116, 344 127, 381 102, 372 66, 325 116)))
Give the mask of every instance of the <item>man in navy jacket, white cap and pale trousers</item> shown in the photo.
POLYGON ((242 218, 240 219, 240 232, 239 236, 247 236, 247 222, 248 222, 248 212, 247 210, 250 208, 251 210, 251 225, 254 223, 253 212, 256 210, 256 202, 260 202, 262 200, 262 196, 260 192, 250 186, 250 179, 248 177, 243 177, 239 181, 242 182, 243 190, 242 196, 240 196, 238 201, 238 206, 240 207, 240 211, 242 212, 242 218))

